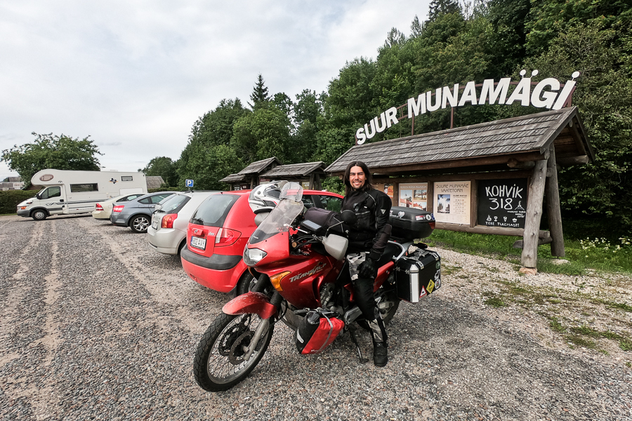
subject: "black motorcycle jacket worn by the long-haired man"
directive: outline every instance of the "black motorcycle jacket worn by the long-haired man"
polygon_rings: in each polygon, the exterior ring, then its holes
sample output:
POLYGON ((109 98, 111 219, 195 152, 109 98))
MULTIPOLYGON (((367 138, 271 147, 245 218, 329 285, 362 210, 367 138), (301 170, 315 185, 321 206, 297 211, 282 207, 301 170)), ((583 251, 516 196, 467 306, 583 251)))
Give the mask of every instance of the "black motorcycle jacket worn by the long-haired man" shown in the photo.
POLYGON ((353 190, 345 196, 341 210, 353 210, 357 217, 350 226, 348 252, 368 251, 369 258, 379 260, 390 239, 391 205, 390 197, 376 189, 353 190))

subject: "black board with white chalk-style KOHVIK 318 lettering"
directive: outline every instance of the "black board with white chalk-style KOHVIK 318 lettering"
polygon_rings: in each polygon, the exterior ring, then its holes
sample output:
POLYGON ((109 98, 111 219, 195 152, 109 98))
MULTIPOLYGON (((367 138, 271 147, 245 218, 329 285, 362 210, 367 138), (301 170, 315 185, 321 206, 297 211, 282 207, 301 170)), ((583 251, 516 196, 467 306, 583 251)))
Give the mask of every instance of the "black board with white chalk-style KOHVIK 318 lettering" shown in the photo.
POLYGON ((479 180, 477 224, 525 228, 527 191, 526 178, 479 180))

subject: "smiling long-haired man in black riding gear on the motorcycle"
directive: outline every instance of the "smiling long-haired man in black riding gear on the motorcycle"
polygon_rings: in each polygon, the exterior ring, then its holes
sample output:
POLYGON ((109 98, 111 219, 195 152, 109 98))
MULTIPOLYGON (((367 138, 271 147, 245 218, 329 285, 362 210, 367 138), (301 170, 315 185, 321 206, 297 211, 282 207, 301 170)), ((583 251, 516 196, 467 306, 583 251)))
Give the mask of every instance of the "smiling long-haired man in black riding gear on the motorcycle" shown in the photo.
POLYGON ((371 184, 369 167, 362 161, 349 163, 345 170, 345 198, 341 210, 352 210, 357 222, 350 227, 347 260, 353 281, 353 294, 357 307, 371 327, 373 336, 373 362, 378 367, 388 363, 386 330, 375 305, 373 283, 377 275, 377 262, 388 239, 391 201, 371 184))

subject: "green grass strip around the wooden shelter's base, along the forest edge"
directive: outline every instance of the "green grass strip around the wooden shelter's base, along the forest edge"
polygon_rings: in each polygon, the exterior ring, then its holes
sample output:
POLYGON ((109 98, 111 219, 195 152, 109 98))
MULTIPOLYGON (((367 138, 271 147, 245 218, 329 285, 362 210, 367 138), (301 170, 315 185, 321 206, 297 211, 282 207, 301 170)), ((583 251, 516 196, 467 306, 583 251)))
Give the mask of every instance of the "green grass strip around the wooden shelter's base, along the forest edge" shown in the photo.
MULTIPOLYGON (((620 235, 623 236, 624 233, 620 235)), ((440 246, 473 255, 492 256, 520 265, 522 249, 513 248, 513 243, 518 239, 520 237, 435 229, 427 241, 430 246, 440 246)), ((594 238, 591 241, 594 242, 594 238)), ((598 246, 585 249, 586 246, 582 246, 579 240, 565 239, 564 259, 569 262, 562 265, 553 264, 552 260, 557 258, 551 255, 551 245, 544 244, 538 248, 537 269, 539 272, 570 276, 583 275, 586 269, 632 274, 632 246, 623 246, 620 250, 614 251, 620 241, 607 241, 610 243, 598 242, 598 246), (604 246, 607 244, 610 247, 605 250, 604 246)))

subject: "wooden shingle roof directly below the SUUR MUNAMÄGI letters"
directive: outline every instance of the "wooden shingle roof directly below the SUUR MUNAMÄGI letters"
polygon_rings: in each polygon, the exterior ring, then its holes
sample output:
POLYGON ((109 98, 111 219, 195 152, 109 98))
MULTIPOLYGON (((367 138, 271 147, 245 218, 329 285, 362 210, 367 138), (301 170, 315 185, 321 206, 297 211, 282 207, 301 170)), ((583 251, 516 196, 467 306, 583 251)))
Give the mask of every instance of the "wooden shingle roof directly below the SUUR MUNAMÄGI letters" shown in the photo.
POLYGON ((325 171, 343 173, 353 161, 363 161, 371 171, 385 174, 407 168, 423 171, 430 168, 430 164, 433 168, 502 164, 506 163, 508 154, 519 161, 534 161, 538 155, 546 154, 553 142, 558 160, 579 156, 594 159, 577 107, 571 107, 356 145, 325 171), (490 156, 495 157, 495 161, 490 161, 490 156))

